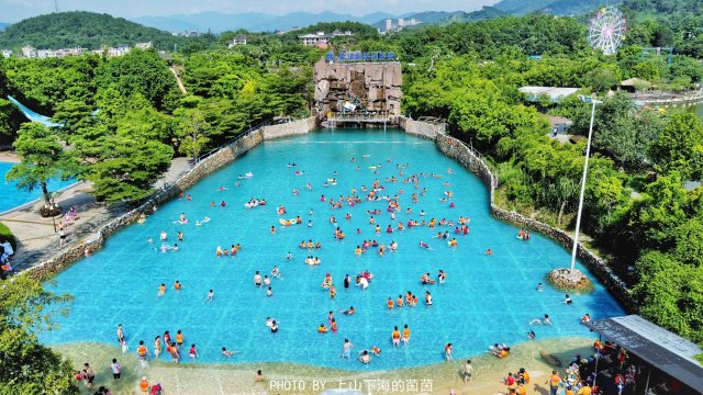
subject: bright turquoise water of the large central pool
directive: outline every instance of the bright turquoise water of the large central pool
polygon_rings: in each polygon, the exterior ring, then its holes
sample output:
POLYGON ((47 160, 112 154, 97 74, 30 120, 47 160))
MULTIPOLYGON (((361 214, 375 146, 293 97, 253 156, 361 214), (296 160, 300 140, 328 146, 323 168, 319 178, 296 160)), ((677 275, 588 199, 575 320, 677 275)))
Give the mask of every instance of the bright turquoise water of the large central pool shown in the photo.
MULTIPOLYGON (((157 335, 168 329, 171 336, 182 329, 186 343, 198 346, 201 362, 223 362, 220 348, 243 351, 233 362, 280 361, 314 364, 347 370, 382 370, 423 365, 442 361, 445 343, 455 347, 455 358, 472 356, 487 350, 488 345, 526 341, 528 321, 549 314, 554 326, 534 326, 537 339, 567 336, 589 336, 579 324, 584 313, 594 318, 623 314, 622 308, 600 283, 585 295, 576 295, 573 305, 565 305, 563 293, 550 289, 538 293, 535 285, 543 282, 553 268, 569 262, 569 253, 554 241, 533 234, 528 242, 516 239, 517 228, 501 223, 489 215, 488 193, 480 181, 457 162, 444 157, 434 143, 408 136, 399 132, 319 132, 290 139, 266 142, 233 165, 202 180, 186 192, 192 201, 175 200, 158 208, 145 224, 133 225, 111 237, 104 250, 82 260, 57 276, 56 289, 76 296, 72 313, 59 319, 62 328, 42 336, 47 343, 98 341, 116 346, 115 328, 122 324, 132 351, 143 339, 152 349, 157 335), (368 158, 362 158, 369 155, 368 158), (352 163, 356 157, 356 163, 352 163), (387 163, 387 158, 391 162, 387 163), (295 168, 287 167, 295 162, 295 168), (378 174, 369 169, 382 165, 378 174), (434 172, 442 179, 422 178, 421 189, 427 188, 424 198, 413 204, 412 184, 401 182, 397 163, 410 163, 405 177, 411 173, 434 172), (355 168, 359 166, 360 170, 355 168), (453 174, 447 169, 454 170, 453 174), (304 171, 295 176, 294 171, 304 171), (338 184, 324 188, 334 171, 338 171, 338 184), (253 172, 254 177, 235 187, 238 174, 253 172), (399 182, 384 182, 395 176, 399 182), (449 248, 445 240, 433 238, 437 228, 416 227, 386 234, 391 223, 389 214, 377 215, 381 234, 376 235, 369 225, 367 210, 386 210, 386 202, 364 202, 355 207, 345 205, 332 210, 321 203, 320 195, 348 195, 350 189, 371 187, 381 180, 386 191, 394 195, 399 189, 402 212, 397 221, 421 221, 424 210, 431 217, 456 219, 460 215, 471 218, 468 236, 457 236, 458 247, 449 248), (445 188, 444 182, 450 182, 445 188), (313 185, 312 191, 305 183, 313 185), (220 192, 219 187, 226 191, 220 192), (293 188, 300 190, 294 196, 293 188), (454 192, 455 208, 440 202, 446 190, 454 192), (244 207, 250 198, 265 198, 266 206, 253 210, 244 207), (220 201, 226 207, 220 206, 220 201), (214 207, 210 202, 217 203, 214 207), (278 224, 277 205, 284 205, 284 217, 303 218, 303 225, 283 227, 278 224), (412 207, 413 214, 405 214, 412 207), (309 211, 314 210, 313 216, 309 211), (180 213, 189 219, 177 224, 180 213), (350 221, 344 218, 352 215, 350 221), (335 227, 328 223, 334 214, 347 238, 334 240, 335 227), (196 219, 210 217, 202 226, 196 219), (312 218, 313 226, 306 223, 312 218), (276 224, 276 235, 269 233, 276 224), (360 235, 356 229, 361 230, 360 235), (160 252, 155 245, 159 233, 166 230, 169 244, 176 241, 181 230, 185 240, 178 242, 177 252, 160 252), (399 244, 399 250, 379 257, 376 250, 356 257, 354 249, 362 239, 377 239, 388 245, 399 244), (303 263, 308 251, 300 250, 302 239, 322 242, 322 250, 314 251, 322 259, 319 267, 303 263), (419 247, 426 240, 432 249, 419 247), (217 258, 217 246, 227 248, 241 244, 236 257, 217 258), (493 250, 492 257, 483 251, 493 250), (287 261, 291 251, 293 260, 287 261), (264 289, 256 289, 253 276, 256 270, 269 273, 277 264, 283 280, 274 280, 274 297, 266 297, 264 289), (369 289, 361 292, 352 286, 344 290, 345 273, 354 274, 368 269, 375 274, 369 289), (444 285, 420 283, 420 276, 431 272, 436 279, 443 269, 448 274, 444 285), (337 286, 336 300, 331 300, 321 289, 325 273, 330 272, 337 286), (180 293, 172 289, 179 280, 180 293), (166 283, 166 295, 156 301, 157 287, 166 283), (215 297, 205 303, 208 290, 215 297), (426 308, 425 290, 434 296, 434 306, 426 308), (420 305, 403 307, 389 313, 386 301, 411 291, 420 305), (354 305, 358 313, 344 316, 339 311, 354 305), (334 311, 338 323, 337 334, 317 334, 317 326, 327 321, 327 312, 334 311), (280 321, 278 334, 265 326, 266 317, 280 321), (393 349, 390 335, 393 326, 408 324, 412 330, 408 347, 393 349), (382 356, 369 366, 339 358, 344 338, 355 345, 355 352, 371 346, 380 347, 382 356)), ((446 228, 446 227, 445 227, 446 228)), ((161 359, 165 356, 161 354, 161 359)), ((187 361, 188 350, 183 350, 187 361)))

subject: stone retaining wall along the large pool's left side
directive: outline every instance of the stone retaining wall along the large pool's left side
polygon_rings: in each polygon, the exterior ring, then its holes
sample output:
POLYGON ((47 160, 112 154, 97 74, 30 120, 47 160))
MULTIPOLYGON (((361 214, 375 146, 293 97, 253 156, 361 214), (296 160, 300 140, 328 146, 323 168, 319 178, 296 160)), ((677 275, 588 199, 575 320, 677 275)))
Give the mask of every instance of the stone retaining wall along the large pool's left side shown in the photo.
POLYGON ((135 223, 142 213, 145 215, 152 214, 154 207, 158 207, 163 203, 178 196, 182 191, 186 191, 198 181, 231 163, 261 142, 271 138, 306 134, 314 129, 314 127, 315 119, 310 117, 280 125, 265 126, 263 129, 250 132, 248 135, 198 162, 198 165, 181 176, 175 183, 154 192, 154 194, 137 208, 108 222, 92 234, 66 247, 55 257, 25 270, 24 273, 27 273, 30 278, 35 280, 51 278, 83 258, 86 250, 93 253, 102 249, 108 237, 135 223))

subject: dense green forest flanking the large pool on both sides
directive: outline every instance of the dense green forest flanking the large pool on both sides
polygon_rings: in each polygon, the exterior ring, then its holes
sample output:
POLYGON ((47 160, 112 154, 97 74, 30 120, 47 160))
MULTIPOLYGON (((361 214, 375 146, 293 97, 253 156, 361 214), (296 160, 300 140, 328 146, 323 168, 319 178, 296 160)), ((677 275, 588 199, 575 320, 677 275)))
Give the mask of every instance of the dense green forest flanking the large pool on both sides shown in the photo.
MULTIPOLYGON (((631 33, 613 56, 590 48, 580 18, 544 14, 383 36, 353 23, 305 31, 357 33, 334 38, 336 50, 395 52, 403 61, 403 111, 446 120, 453 135, 481 150, 500 180, 499 204, 566 229, 573 228, 584 143, 549 138, 545 114, 573 120, 571 133, 584 135, 590 108, 574 97, 529 102, 517 89, 577 87, 602 98, 583 221, 590 247, 628 282, 639 314, 701 342, 703 188, 683 184, 703 177, 703 124, 690 113, 639 108, 614 91, 631 77, 659 89, 700 86, 703 45, 690 25, 700 16, 678 3, 625 1, 631 33), (670 65, 643 55, 644 47, 667 43, 677 48, 670 65)), ((237 33, 214 37, 202 50, 171 54, 188 94, 153 49, 119 58, 1 60, 0 94, 64 126, 22 123, 0 99, 0 132, 34 157, 38 148, 64 144, 49 167, 92 181, 101 200, 138 202, 174 156, 198 156, 277 115, 310 113, 312 65, 324 53, 298 44, 293 33, 250 34, 247 45, 226 48, 237 33)))

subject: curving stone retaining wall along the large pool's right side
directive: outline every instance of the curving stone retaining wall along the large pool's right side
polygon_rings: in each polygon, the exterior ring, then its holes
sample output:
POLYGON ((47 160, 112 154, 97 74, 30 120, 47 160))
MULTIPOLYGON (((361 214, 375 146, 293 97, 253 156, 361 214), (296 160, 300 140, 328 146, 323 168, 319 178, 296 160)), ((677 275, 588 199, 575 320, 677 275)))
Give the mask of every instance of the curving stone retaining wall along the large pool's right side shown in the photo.
MULTIPOLYGON (((426 126, 422 126, 417 125, 422 124, 421 122, 411 121, 412 120, 405 120, 403 123, 403 121, 401 120, 401 126, 406 125, 412 128, 412 132, 405 129, 406 133, 413 135, 423 135, 426 138, 431 138, 428 136, 432 135, 433 131, 435 131, 436 125, 425 124, 426 126)), ((481 179, 481 181, 490 192, 490 211, 495 218, 515 224, 523 228, 534 229, 543 235, 553 238, 563 248, 571 250, 571 248, 573 247, 573 238, 565 230, 555 228, 533 218, 528 218, 518 213, 509 212, 494 204, 493 196, 495 194, 495 188, 498 187, 498 178, 495 178, 491 169, 488 167, 488 165, 486 165, 483 159, 480 157, 480 154, 469 148, 469 146, 467 146, 464 142, 448 136, 446 133, 444 133, 444 131, 437 132, 434 140, 437 145, 437 148, 444 155, 457 160, 465 168, 467 168, 479 179, 481 179)), ((613 271, 607 267, 606 262, 603 259, 594 256, 581 244, 578 245, 577 256, 579 257, 581 262, 583 262, 583 264, 589 268, 591 273, 594 274, 603 284, 605 284, 610 292, 623 304, 626 311, 635 311, 635 303, 629 295, 627 284, 622 281, 615 273, 613 273, 613 271)))

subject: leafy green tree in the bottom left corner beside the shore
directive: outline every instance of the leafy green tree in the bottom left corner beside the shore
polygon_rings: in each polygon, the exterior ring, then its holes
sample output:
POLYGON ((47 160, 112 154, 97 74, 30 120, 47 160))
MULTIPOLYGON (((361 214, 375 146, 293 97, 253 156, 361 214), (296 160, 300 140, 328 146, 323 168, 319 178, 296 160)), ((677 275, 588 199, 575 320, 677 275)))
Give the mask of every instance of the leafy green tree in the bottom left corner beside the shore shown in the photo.
POLYGON ((0 394, 80 394, 70 362, 37 341, 70 302, 26 275, 0 280, 0 394))

